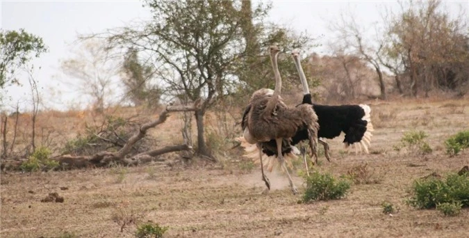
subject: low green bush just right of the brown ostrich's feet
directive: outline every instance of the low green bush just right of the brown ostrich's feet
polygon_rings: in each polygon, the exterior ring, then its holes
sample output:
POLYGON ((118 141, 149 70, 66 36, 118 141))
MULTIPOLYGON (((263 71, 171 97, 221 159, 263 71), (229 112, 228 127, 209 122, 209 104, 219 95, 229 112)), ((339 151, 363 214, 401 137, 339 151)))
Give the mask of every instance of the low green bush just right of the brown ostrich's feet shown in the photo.
POLYGON ((303 202, 340 199, 345 196, 348 189, 350 189, 350 183, 347 180, 336 181, 331 174, 321 174, 316 171, 310 177, 306 177, 303 202))

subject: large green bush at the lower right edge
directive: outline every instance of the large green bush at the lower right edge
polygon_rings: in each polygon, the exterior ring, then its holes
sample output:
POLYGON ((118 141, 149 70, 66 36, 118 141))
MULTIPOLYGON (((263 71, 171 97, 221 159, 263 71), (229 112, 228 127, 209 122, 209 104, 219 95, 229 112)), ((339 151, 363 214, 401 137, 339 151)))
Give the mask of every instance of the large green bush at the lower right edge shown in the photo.
POLYGON ((461 203, 461 207, 469 207, 469 177, 467 174, 450 174, 445 180, 438 177, 415 180, 408 202, 421 209, 435 208, 443 203, 461 203))

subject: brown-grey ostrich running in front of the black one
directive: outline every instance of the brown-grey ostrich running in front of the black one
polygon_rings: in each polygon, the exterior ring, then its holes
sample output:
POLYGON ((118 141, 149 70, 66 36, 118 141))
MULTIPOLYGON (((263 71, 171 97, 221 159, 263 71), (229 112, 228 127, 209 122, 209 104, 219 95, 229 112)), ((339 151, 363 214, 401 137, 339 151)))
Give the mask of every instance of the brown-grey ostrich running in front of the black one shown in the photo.
MULTIPOLYGON (((275 140, 277 146, 277 158, 288 176, 288 182, 294 194, 298 193, 293 180, 285 166, 282 154, 283 141, 290 141, 299 130, 308 132, 309 145, 311 152, 317 156, 318 144, 318 116, 314 112, 311 105, 299 105, 297 107, 288 107, 280 97, 281 93, 281 77, 277 65, 277 56, 279 49, 277 46, 269 47, 270 60, 275 75, 275 89, 271 90, 262 88, 254 92, 249 102, 250 109, 247 112, 247 120, 245 126, 247 130, 244 136, 247 141, 256 143, 259 151, 259 159, 261 161, 262 178, 268 190, 270 190, 270 182, 265 176, 262 162, 262 152, 265 143, 275 140)), ((268 191, 267 190, 267 191, 268 191)))

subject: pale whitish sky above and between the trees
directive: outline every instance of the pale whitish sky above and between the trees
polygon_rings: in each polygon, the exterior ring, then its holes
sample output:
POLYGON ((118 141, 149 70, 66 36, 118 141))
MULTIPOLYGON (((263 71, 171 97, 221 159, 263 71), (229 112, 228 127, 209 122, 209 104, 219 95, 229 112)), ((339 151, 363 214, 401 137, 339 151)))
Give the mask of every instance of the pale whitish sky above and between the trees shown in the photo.
MULTIPOLYGON (((445 1, 450 13, 457 15, 463 9, 469 14, 469 1, 445 1)), ((364 29, 381 20, 384 7, 398 9, 397 1, 273 1, 269 19, 289 26, 295 31, 307 31, 314 38, 323 35, 318 43, 327 45, 329 22, 338 18, 341 11, 354 13, 364 29)), ((37 68, 35 78, 39 81, 44 104, 55 109, 65 109, 72 104, 86 103, 89 99, 74 93, 58 81, 63 78, 60 60, 72 55, 71 49, 77 34, 99 33, 106 29, 124 26, 131 21, 149 19, 149 8, 141 1, 6 1, 0 0, 0 28, 18 30, 24 28, 43 38, 49 53, 33 61, 37 68)), ((313 49, 326 53, 326 47, 313 49)), ((27 78, 21 79, 23 87, 9 87, 7 105, 17 100, 26 101, 29 88, 27 78)), ((10 107, 3 109, 10 111, 10 107)), ((1 110, 1 109, 0 109, 1 110)))

